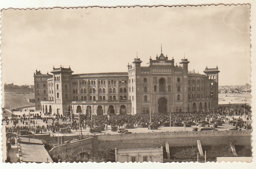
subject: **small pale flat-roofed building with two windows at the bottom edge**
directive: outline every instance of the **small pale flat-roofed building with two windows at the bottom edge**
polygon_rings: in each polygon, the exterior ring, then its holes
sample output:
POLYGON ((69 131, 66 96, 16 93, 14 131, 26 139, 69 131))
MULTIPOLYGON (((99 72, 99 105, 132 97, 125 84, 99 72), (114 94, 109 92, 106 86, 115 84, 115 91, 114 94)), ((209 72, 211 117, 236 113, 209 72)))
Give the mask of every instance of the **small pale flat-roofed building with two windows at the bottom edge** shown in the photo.
POLYGON ((163 163, 163 147, 120 149, 115 148, 116 162, 160 162, 163 163))

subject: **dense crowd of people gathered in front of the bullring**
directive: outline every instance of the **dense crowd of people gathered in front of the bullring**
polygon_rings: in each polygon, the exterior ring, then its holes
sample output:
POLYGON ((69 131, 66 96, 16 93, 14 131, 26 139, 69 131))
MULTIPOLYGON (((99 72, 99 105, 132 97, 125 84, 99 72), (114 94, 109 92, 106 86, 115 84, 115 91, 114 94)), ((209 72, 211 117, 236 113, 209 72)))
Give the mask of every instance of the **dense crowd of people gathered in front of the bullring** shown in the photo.
MULTIPOLYGON (((172 122, 184 122, 184 121, 192 121, 197 123, 198 121, 204 120, 210 122, 211 120, 223 120, 223 121, 238 121, 239 118, 234 118, 234 114, 238 116, 243 116, 243 110, 240 108, 238 110, 238 106, 219 106, 215 110, 209 110, 205 112, 179 112, 179 113, 171 113, 171 117, 169 113, 161 113, 161 114, 151 114, 151 122, 157 123, 159 125, 164 125, 166 121, 172 122)), ((248 115, 248 111, 246 111, 246 119, 251 120, 251 116, 248 115)), ((7 132, 15 132, 19 134, 20 130, 28 130, 29 129, 29 119, 30 119, 30 131, 34 132, 35 134, 42 133, 42 132, 56 132, 59 131, 61 128, 68 128, 72 130, 79 129, 79 119, 72 118, 70 116, 60 116, 60 117, 41 117, 41 114, 30 114, 29 115, 12 115, 9 119, 5 117, 3 120, 6 121, 6 125, 11 124, 14 126, 6 127, 7 132), (41 120, 46 125, 37 125, 37 120, 41 120), (49 123, 50 121, 50 123, 49 123), (22 123, 17 125, 18 123, 22 123)), ((86 129, 87 127, 91 128, 94 126, 101 126, 105 128, 107 125, 115 125, 118 127, 123 127, 124 124, 132 124, 134 126, 139 126, 141 123, 148 123, 150 122, 150 114, 125 114, 125 115, 117 115, 117 114, 110 114, 110 115, 92 115, 88 116, 85 115, 83 119, 80 119, 80 125, 82 128, 86 129)), ((251 129, 251 124, 244 124, 244 123, 237 123, 236 127, 251 129)))

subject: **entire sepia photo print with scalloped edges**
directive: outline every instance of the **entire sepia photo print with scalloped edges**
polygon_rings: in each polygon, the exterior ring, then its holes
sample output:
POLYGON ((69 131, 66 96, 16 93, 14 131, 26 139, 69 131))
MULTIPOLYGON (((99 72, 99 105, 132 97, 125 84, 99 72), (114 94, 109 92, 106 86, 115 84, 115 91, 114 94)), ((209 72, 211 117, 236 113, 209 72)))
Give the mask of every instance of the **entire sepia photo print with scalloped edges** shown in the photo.
POLYGON ((2 9, 3 163, 251 163, 250 8, 2 9))

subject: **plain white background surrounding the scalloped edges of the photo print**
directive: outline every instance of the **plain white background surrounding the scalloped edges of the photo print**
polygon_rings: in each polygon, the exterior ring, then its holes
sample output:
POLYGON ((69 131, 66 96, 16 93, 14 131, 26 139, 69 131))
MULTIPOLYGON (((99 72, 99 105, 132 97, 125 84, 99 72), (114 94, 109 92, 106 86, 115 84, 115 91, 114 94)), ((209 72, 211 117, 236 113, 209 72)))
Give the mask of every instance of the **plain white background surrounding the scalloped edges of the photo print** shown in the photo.
MULTIPOLYGON (((70 8, 70 7, 89 7, 89 6, 99 6, 99 7, 118 7, 118 6, 127 6, 127 7, 131 7, 131 6, 186 6, 186 5, 190 5, 190 6, 198 6, 198 5, 211 5, 211 4, 224 4, 224 5, 231 5, 231 4, 250 4, 251 9, 250 9, 250 24, 251 24, 251 84, 252 84, 252 112, 255 112, 256 109, 254 108, 255 104, 254 104, 254 100, 256 95, 255 93, 255 71, 256 71, 256 42, 255 42, 255 33, 256 33, 256 20, 255 20, 255 12, 256 12, 256 1, 254 0, 197 0, 197 1, 192 1, 192 0, 62 0, 62 1, 58 1, 58 0, 38 0, 38 1, 34 1, 34 0, 0 0, 0 10, 1 9, 7 9, 7 8, 19 8, 19 9, 27 9, 27 8, 54 8, 54 7, 61 7, 61 8, 70 8), (255 97, 254 97, 255 96, 255 97), (255 110, 255 111, 254 111, 255 110)), ((1 31, 0 31, 1 34, 1 31)), ((0 37, 1 38, 1 37, 0 37)), ((1 39, 0 39, 1 40, 1 39)), ((1 44, 1 42, 0 42, 1 44)), ((1 53, 1 50, 0 50, 1 53)), ((0 74, 2 73, 2 71, 0 70, 0 74)), ((0 75, 1 77, 1 75, 0 75)), ((1 82, 2 84, 2 82, 1 82)), ((2 90, 2 88, 0 87, 0 89, 2 90)), ((2 94, 2 93, 1 93, 2 94)), ((2 95, 0 95, 0 103, 2 100, 2 95)), ((255 121, 256 117, 253 116, 252 120, 255 121)), ((0 116, 0 123, 2 120, 2 116, 0 116)), ((255 130, 255 123, 252 124, 253 129, 255 130)), ((0 125, 0 128, 1 125, 0 125)), ((1 130, 0 130, 1 131, 1 130)), ((1 133, 0 133, 1 135, 1 133)), ((255 131, 253 131, 253 137, 252 137, 252 145, 253 145, 253 156, 255 156, 255 149, 256 149, 256 134, 255 131)), ((0 137, 0 146, 2 145, 2 138, 0 137)), ((2 148, 2 147, 1 147, 2 148)), ((151 163, 151 162, 147 162, 147 163, 54 163, 54 164, 36 164, 36 163, 15 163, 15 164, 6 164, 6 163, 2 163, 2 151, 0 151, 0 168, 15 168, 15 167, 19 167, 19 169, 29 169, 29 168, 73 168, 73 167, 86 167, 86 168, 122 168, 122 169, 131 169, 131 168, 255 168, 256 166, 256 160, 255 158, 253 158, 252 163, 237 163, 237 162, 233 162, 233 163, 151 163)))

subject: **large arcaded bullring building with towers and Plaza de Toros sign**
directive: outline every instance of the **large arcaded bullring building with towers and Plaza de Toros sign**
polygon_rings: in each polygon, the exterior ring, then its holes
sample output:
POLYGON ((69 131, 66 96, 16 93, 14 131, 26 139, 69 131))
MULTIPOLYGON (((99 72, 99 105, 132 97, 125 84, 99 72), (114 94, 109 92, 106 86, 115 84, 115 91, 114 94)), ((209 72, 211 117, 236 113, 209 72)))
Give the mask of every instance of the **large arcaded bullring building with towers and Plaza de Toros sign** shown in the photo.
POLYGON ((205 74, 188 71, 188 59, 178 66, 161 53, 142 67, 140 58, 127 72, 73 74, 54 68, 34 73, 36 110, 52 115, 143 114, 207 111, 218 105, 217 68, 205 74), (72 107, 72 108, 70 108, 72 107))

